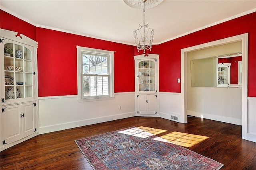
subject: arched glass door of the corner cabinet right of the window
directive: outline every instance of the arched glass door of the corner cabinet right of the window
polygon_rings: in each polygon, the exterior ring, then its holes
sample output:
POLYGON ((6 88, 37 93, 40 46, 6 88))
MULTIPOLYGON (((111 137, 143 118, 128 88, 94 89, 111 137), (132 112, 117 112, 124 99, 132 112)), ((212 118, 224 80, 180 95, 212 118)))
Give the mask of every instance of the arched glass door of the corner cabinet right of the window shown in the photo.
POLYGON ((155 92, 155 62, 143 60, 138 62, 138 91, 155 92))

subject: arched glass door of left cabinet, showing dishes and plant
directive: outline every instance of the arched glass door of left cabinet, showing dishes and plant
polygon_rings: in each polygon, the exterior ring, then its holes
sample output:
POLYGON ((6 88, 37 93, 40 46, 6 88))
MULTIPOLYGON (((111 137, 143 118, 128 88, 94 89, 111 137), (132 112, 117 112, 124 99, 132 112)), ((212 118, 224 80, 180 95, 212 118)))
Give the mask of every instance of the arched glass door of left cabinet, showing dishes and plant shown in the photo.
MULTIPOLYGON (((12 41, 13 42, 13 41, 12 41)), ((4 41, 5 100, 33 97, 32 51, 18 43, 4 41)))

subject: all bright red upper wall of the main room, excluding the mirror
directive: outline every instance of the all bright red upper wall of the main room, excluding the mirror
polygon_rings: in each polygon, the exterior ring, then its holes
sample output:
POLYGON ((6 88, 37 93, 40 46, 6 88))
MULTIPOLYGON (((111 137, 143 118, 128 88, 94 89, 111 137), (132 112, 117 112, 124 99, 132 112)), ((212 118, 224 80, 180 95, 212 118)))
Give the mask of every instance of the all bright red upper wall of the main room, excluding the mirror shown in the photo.
MULTIPOLYGON (((80 35, 35 27, 0 10, 0 27, 22 33, 38 42, 39 96, 77 94, 76 45, 116 51, 114 54, 115 92, 134 91, 136 47, 80 35), (22 25, 17 27, 16 25, 22 25)), ((248 33, 248 96, 256 97, 256 12, 218 25, 153 45, 147 53, 160 54, 161 92, 180 92, 180 50, 186 47, 248 33)), ((166 39, 169 37, 166 37, 166 39)))

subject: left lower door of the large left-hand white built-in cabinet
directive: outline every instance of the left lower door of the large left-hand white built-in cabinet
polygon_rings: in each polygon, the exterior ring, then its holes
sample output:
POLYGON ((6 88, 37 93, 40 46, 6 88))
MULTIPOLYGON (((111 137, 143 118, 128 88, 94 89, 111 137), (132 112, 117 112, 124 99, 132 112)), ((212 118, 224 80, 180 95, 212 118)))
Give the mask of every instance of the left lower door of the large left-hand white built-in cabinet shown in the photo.
POLYGON ((6 145, 22 139, 21 105, 6 106, 1 113, 1 144, 6 145))

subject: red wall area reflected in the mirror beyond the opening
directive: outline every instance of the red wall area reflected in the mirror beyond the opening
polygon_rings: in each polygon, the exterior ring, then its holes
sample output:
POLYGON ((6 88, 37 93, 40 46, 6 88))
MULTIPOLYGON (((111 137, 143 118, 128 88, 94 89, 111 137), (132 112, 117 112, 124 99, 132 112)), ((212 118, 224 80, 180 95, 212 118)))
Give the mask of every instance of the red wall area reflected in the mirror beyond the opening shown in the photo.
POLYGON ((230 84, 238 84, 238 61, 242 61, 242 56, 221 58, 218 63, 230 63, 230 84))

